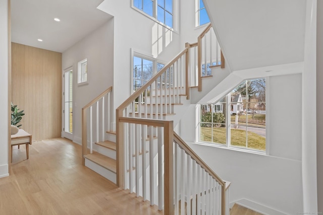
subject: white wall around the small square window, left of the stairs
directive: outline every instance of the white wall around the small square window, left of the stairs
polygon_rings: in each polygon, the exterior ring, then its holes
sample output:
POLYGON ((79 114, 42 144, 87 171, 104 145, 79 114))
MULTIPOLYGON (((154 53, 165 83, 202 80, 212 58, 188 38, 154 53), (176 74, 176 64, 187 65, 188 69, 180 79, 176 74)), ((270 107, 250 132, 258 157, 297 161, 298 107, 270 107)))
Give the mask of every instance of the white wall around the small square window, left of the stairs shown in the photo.
POLYGON ((82 107, 113 86, 113 32, 114 21, 111 19, 62 55, 62 69, 73 66, 73 141, 79 144, 82 137, 82 107), (89 83, 78 86, 77 63, 85 58, 89 83))

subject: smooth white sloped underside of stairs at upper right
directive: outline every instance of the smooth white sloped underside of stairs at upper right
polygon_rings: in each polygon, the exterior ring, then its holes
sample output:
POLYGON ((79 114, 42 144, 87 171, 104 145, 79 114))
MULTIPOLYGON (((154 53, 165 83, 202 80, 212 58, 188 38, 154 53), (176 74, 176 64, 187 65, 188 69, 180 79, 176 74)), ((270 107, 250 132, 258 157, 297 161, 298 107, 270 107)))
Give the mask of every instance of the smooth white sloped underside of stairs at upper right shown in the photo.
POLYGON ((304 60, 306 0, 203 0, 232 71, 304 60))

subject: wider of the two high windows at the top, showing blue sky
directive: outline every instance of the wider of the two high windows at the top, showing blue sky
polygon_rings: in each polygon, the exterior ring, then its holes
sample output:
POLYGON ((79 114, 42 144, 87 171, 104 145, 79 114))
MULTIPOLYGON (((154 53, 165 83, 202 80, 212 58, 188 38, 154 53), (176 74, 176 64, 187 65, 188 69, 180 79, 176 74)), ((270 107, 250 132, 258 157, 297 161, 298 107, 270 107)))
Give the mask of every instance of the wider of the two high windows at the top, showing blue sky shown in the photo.
POLYGON ((159 22, 173 28, 173 0, 133 0, 133 6, 159 22))

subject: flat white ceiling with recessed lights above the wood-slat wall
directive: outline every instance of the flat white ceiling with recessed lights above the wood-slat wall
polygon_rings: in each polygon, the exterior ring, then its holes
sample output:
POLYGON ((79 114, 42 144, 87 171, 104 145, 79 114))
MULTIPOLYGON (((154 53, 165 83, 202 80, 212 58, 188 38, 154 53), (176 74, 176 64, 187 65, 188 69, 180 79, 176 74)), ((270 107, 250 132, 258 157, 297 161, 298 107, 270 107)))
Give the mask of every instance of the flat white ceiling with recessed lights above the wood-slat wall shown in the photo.
POLYGON ((96 9, 102 1, 11 0, 12 42, 64 52, 112 18, 96 9))

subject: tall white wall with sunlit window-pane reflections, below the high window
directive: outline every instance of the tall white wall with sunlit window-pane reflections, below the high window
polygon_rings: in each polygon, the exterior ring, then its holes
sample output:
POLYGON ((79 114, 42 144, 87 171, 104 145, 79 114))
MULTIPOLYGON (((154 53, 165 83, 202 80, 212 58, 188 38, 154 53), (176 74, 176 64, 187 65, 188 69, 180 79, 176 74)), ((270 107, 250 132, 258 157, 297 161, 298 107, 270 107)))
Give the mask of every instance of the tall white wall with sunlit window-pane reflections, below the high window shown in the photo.
POLYGON ((179 52, 180 36, 131 8, 131 1, 105 0, 100 10, 114 16, 114 109, 131 93, 131 48, 169 62, 179 52))

